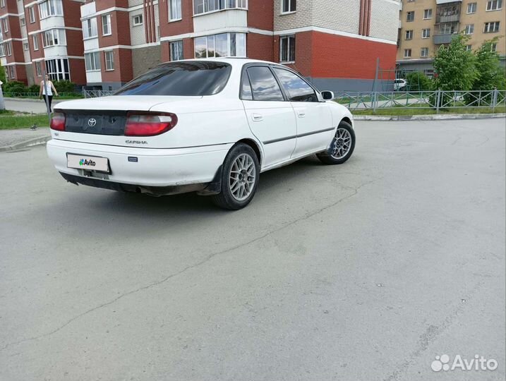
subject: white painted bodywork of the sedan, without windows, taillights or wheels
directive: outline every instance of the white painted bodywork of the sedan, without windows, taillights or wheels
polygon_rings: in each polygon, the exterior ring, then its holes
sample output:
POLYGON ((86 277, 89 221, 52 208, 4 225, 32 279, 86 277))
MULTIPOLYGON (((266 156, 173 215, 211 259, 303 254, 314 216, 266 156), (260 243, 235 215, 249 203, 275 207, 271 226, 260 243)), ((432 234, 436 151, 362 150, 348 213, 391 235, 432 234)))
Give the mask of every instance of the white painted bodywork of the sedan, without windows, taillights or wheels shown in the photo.
POLYGON ((177 124, 160 135, 135 137, 52 130, 47 153, 56 169, 68 181, 102 188, 215 194, 219 169, 236 143, 254 147, 260 171, 267 171, 327 150, 339 123, 353 123, 347 108, 324 101, 318 91, 319 102, 241 100, 243 66, 285 67, 251 59, 214 61, 231 66, 227 85, 215 95, 113 95, 59 103, 55 111, 67 119, 82 110, 150 111, 176 114, 177 124), (68 167, 68 155, 107 158, 110 171, 68 167))

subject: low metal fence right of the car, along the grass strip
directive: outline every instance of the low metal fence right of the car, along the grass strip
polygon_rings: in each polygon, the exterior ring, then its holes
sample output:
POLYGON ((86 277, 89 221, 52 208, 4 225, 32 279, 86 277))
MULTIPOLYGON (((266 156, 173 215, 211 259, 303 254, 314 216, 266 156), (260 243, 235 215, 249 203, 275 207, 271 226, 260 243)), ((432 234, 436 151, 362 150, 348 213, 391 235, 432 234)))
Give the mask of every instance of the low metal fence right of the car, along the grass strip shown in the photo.
POLYGON ((417 91, 417 92, 336 92, 335 101, 351 110, 421 108, 481 108, 495 111, 506 106, 506 90, 417 91))

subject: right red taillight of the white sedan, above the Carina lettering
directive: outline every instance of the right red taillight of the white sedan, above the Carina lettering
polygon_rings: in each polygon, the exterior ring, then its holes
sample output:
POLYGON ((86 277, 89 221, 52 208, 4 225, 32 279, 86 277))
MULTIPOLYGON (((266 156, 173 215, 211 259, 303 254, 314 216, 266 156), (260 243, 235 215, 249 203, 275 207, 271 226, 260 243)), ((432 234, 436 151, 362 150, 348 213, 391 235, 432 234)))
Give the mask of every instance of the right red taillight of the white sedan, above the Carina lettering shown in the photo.
POLYGON ((129 112, 126 118, 126 136, 153 136, 167 132, 177 124, 171 113, 129 112))

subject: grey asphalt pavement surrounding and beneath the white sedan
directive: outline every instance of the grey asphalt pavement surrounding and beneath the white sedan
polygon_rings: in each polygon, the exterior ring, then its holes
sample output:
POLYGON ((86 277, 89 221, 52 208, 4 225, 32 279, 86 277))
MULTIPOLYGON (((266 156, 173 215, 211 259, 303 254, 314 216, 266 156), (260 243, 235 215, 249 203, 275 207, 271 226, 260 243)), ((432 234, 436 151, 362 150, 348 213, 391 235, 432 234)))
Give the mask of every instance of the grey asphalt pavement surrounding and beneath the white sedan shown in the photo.
POLYGON ((0 380, 504 380, 505 119, 356 135, 237 212, 0 153, 0 380))

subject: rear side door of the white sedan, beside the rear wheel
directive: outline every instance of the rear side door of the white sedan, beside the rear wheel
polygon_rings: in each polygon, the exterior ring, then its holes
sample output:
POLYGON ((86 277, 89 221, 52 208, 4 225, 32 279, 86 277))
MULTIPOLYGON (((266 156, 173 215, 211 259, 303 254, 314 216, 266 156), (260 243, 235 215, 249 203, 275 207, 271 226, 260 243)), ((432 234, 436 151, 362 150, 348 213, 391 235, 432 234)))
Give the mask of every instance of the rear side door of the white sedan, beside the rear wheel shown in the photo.
POLYGON ((295 113, 269 66, 243 69, 241 99, 251 131, 263 145, 262 167, 289 159, 296 144, 295 113))

